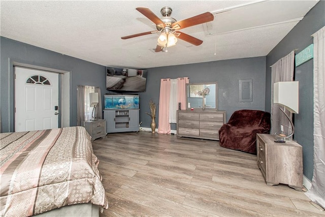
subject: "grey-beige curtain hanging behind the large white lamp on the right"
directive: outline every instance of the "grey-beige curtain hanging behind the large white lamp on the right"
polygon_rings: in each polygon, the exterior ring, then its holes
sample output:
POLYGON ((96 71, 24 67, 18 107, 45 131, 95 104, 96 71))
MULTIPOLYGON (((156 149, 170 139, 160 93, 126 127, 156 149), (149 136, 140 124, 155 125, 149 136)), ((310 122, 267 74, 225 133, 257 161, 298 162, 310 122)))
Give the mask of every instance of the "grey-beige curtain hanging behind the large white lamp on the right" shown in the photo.
MULTIPOLYGON (((280 125, 283 125, 286 135, 292 132, 289 120, 279 110, 280 105, 273 103, 273 84, 278 81, 293 81, 295 69, 295 51, 291 51, 285 57, 279 59, 271 66, 271 134, 280 131, 280 125)), ((290 112, 286 111, 289 116, 290 112)))

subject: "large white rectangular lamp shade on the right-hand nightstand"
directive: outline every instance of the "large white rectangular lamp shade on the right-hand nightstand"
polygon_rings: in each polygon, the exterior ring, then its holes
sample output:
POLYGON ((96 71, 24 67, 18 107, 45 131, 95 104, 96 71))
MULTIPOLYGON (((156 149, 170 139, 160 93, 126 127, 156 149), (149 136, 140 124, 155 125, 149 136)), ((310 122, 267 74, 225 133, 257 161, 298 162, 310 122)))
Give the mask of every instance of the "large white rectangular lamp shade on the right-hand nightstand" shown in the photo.
POLYGON ((273 103, 285 106, 292 113, 299 113, 299 81, 280 81, 273 85, 273 103))

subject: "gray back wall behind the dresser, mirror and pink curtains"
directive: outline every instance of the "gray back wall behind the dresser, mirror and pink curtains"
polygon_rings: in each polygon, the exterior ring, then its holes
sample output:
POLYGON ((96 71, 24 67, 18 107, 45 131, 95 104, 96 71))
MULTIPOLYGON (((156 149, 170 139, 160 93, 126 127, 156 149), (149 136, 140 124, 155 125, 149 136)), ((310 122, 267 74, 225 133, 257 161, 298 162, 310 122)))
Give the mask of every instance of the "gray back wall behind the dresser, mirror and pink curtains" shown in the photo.
MULTIPOLYGON (((218 81, 218 109, 226 111, 227 121, 236 110, 265 110, 265 66, 264 56, 147 69, 147 89, 140 93, 140 120, 143 121, 141 126, 150 127, 151 119, 145 112, 150 111, 150 99, 158 104, 162 78, 189 77, 190 83, 218 81), (252 79, 252 102, 239 102, 240 79, 252 79)), ((158 112, 157 109, 157 123, 158 112)), ((176 130, 176 125, 172 125, 172 130, 176 130)))

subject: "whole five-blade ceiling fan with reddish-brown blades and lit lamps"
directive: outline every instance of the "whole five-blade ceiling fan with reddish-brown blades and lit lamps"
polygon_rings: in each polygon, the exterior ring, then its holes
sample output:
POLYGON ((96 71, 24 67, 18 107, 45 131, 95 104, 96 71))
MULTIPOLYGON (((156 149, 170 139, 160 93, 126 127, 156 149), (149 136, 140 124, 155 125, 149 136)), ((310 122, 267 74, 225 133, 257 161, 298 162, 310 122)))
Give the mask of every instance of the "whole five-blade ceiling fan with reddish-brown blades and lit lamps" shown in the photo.
POLYGON ((172 8, 164 7, 161 8, 160 13, 163 17, 157 17, 150 9, 148 8, 136 8, 140 13, 145 15, 150 19, 154 24, 156 24, 155 31, 138 33, 130 36, 121 37, 121 39, 130 39, 138 36, 150 35, 153 33, 161 33, 157 40, 157 46, 155 52, 163 51, 164 48, 171 47, 176 45, 177 39, 186 41, 192 45, 201 45, 203 41, 200 39, 189 36, 185 33, 179 32, 179 29, 190 27, 193 25, 202 24, 205 22, 210 22, 214 19, 213 14, 206 12, 191 18, 187 18, 181 21, 176 21, 176 19, 171 17, 172 8))

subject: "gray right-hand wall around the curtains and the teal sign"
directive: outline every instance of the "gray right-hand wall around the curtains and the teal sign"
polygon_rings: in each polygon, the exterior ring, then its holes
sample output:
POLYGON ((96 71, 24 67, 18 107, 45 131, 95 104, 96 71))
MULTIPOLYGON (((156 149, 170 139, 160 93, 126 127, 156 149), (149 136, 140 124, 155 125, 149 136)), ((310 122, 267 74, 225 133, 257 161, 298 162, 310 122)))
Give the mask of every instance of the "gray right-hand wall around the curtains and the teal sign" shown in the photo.
MULTIPOLYGON (((299 53, 313 43, 312 34, 325 25, 325 1, 319 1, 267 55, 265 108, 271 110, 271 68, 294 49, 299 53)), ((295 115, 295 140, 303 146, 304 175, 313 174, 313 60, 296 68, 299 81, 299 114, 295 115)))

